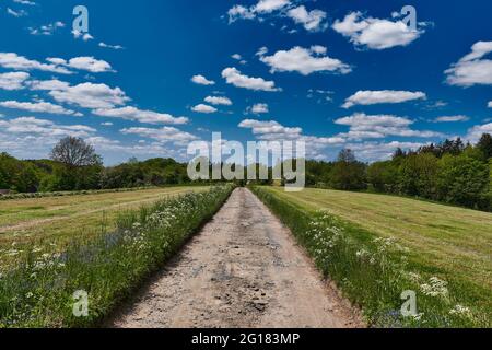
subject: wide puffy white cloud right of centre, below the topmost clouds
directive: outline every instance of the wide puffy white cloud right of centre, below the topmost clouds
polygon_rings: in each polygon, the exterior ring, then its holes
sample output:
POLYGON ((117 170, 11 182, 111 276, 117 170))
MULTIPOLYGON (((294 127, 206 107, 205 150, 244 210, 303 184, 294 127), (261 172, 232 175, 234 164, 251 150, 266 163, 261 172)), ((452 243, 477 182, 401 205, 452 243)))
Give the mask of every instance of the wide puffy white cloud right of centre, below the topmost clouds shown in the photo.
POLYGON ((339 59, 324 56, 326 48, 323 46, 313 46, 309 49, 296 46, 290 50, 280 50, 272 56, 261 56, 260 60, 271 67, 271 72, 292 72, 296 71, 303 75, 314 72, 336 72, 347 74, 351 71, 350 66, 339 59))

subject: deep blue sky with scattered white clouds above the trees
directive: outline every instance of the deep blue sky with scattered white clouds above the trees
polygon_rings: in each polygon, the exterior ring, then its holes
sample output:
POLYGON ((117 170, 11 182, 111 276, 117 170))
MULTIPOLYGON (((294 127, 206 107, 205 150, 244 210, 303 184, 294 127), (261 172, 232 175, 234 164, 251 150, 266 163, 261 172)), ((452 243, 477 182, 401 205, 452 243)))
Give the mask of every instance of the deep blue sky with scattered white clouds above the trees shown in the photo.
POLYGON ((74 135, 106 164, 186 160, 190 141, 221 131, 374 161, 476 141, 492 132, 491 12, 479 0, 2 0, 0 151, 45 158, 74 135), (78 4, 89 33, 73 33, 78 4), (408 4, 414 31, 398 15, 408 4))

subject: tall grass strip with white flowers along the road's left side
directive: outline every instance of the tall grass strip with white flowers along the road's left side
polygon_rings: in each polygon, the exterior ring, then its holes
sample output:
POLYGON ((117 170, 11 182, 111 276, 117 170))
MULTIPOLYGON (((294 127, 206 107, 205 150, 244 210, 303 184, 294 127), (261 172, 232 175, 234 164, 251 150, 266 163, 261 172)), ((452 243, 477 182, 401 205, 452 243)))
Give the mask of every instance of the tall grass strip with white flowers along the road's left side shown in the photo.
POLYGON ((32 247, 0 275, 0 327, 95 326, 162 266, 226 200, 232 186, 190 192, 122 212, 117 230, 75 240, 63 253, 32 247), (89 314, 73 313, 74 292, 89 314))

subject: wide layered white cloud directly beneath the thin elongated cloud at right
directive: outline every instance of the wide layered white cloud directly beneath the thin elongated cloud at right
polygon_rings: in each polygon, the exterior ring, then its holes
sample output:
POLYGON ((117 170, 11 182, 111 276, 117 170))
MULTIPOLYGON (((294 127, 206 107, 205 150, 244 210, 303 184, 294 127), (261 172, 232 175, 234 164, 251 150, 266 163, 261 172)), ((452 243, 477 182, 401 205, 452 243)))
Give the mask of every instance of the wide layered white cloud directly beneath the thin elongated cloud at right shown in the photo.
POLYGON ((410 126, 413 124, 413 120, 394 115, 370 116, 363 113, 355 113, 352 116, 336 119, 335 124, 349 126, 350 131, 340 133, 340 137, 352 140, 379 139, 387 136, 419 138, 442 136, 442 133, 435 131, 412 130, 410 126))

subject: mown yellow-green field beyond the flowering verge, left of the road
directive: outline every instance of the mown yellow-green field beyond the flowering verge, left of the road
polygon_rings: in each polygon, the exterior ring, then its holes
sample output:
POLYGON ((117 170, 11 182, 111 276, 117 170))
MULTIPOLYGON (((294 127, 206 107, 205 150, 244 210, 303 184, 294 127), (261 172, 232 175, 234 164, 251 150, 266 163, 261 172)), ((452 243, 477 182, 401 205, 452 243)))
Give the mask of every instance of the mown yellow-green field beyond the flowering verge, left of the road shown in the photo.
POLYGON ((77 237, 112 231, 121 210, 207 188, 183 186, 0 201, 0 252, 10 249, 12 244, 20 249, 36 241, 60 245, 77 237))

